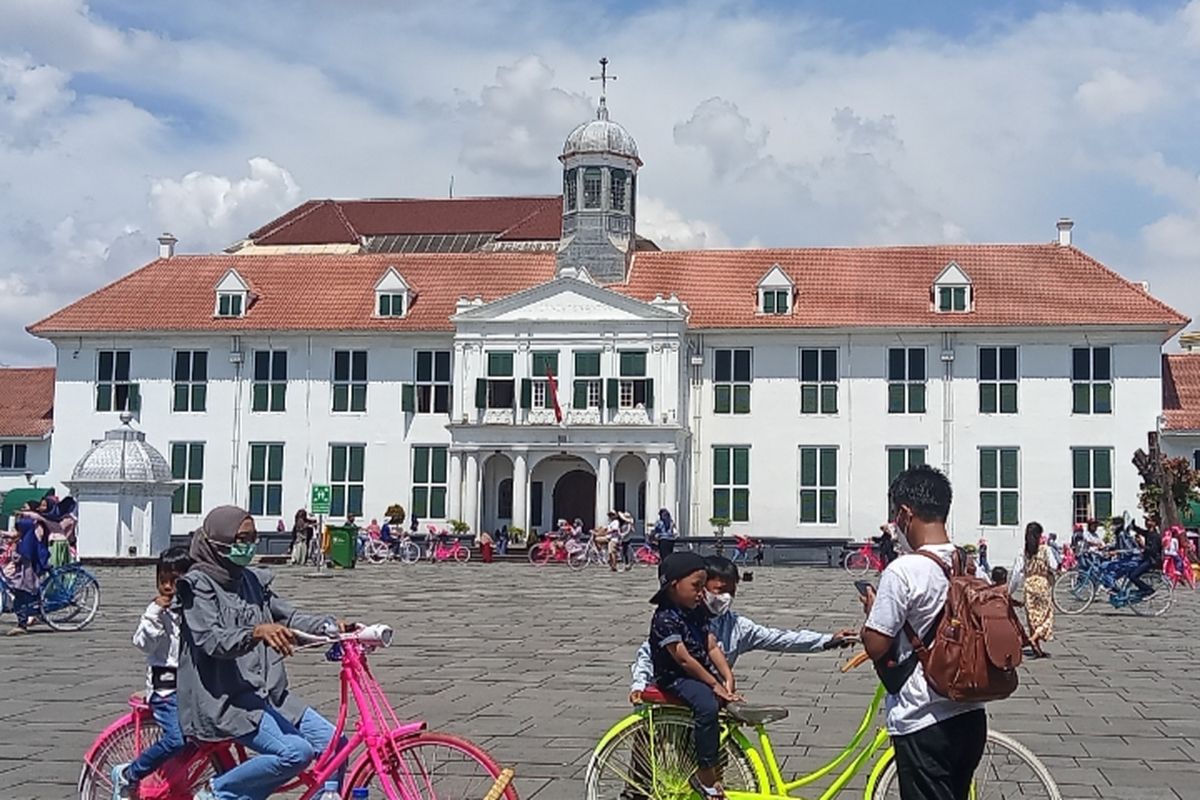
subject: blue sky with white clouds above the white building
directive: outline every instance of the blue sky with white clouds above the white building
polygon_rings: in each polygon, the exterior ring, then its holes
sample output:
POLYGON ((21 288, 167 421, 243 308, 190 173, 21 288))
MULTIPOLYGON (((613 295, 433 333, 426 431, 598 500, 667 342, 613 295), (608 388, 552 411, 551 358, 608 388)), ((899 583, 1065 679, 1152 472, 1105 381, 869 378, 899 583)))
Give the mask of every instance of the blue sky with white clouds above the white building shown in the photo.
POLYGON ((599 56, 667 247, 1076 242, 1189 315, 1200 0, 0 0, 0 362, 308 197, 550 193, 599 56))

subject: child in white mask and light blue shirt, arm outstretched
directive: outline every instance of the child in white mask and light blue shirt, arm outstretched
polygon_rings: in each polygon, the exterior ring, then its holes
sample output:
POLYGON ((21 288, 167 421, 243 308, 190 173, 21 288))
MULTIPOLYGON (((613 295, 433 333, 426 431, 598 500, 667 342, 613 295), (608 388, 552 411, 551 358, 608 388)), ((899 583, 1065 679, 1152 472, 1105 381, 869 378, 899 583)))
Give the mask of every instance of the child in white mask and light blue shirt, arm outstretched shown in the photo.
MULTIPOLYGON (((708 579, 704 583, 704 609, 710 616, 708 630, 716 637, 730 668, 738 657, 752 650, 770 652, 822 652, 848 646, 858 640, 857 631, 841 630, 836 633, 816 631, 787 631, 758 625, 749 616, 733 610, 733 599, 742 578, 738 565, 722 555, 704 559, 708 579)), ((629 686, 629 702, 642 702, 642 691, 654 675, 650 663, 650 643, 643 642, 630 668, 634 680, 629 686)))

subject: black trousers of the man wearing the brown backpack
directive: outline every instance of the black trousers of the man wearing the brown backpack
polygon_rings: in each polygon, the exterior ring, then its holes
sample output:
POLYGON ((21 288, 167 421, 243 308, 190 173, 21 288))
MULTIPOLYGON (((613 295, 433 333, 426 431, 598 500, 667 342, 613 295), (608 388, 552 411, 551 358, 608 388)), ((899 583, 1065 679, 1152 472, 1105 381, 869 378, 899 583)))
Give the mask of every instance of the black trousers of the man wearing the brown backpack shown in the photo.
POLYGON ((986 741, 988 715, 982 709, 892 736, 900 800, 968 800, 986 741))

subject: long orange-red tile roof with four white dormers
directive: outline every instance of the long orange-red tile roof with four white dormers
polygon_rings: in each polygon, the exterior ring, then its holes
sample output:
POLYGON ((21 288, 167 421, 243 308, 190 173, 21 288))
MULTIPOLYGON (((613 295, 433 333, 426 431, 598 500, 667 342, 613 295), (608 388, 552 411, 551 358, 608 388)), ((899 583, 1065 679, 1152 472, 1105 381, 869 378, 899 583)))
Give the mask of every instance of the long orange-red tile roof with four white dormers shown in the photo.
MULTIPOLYGON (((450 330, 460 296, 494 300, 554 275, 548 252, 176 255, 30 326, 36 335, 185 330, 450 330), (373 315, 389 266, 416 293, 403 319, 373 315), (241 319, 212 317, 214 288, 235 267, 258 297, 241 319), (168 309, 150 313, 150 309, 168 309)), ((994 327, 1142 325, 1187 318, 1079 249, 1057 245, 946 245, 640 252, 628 284, 641 300, 677 294, 696 329, 994 327), (968 313, 932 311, 931 285, 949 261, 971 277, 968 313), (791 314, 757 313, 758 281, 774 264, 796 284, 791 314)))

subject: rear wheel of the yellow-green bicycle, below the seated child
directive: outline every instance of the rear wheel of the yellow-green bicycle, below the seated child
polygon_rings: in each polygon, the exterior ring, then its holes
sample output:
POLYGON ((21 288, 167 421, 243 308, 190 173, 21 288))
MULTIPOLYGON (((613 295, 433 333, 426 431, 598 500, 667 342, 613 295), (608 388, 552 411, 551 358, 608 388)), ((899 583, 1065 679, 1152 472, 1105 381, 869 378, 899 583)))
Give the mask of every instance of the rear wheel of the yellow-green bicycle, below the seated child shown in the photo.
MULTIPOLYGON (((720 752, 726 789, 766 792, 758 787, 750 759, 726 736, 720 752)), ((617 734, 592 757, 584 776, 587 800, 628 798, 695 798, 688 781, 696 771, 696 735, 691 716, 676 709, 655 709, 617 734), (650 723, 653 718, 653 726, 650 723)))

